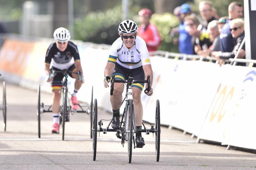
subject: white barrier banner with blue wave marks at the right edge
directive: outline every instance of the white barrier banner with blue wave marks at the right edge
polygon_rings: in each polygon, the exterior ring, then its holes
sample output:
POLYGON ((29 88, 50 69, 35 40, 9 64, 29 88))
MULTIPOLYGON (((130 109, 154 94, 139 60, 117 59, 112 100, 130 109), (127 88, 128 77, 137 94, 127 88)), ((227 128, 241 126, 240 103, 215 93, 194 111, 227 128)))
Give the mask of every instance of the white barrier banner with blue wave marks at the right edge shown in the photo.
POLYGON ((222 144, 256 149, 256 69, 243 67, 242 73, 241 86, 239 89, 235 87, 238 94, 234 98, 234 105, 227 110, 231 112, 231 117, 225 126, 222 144))

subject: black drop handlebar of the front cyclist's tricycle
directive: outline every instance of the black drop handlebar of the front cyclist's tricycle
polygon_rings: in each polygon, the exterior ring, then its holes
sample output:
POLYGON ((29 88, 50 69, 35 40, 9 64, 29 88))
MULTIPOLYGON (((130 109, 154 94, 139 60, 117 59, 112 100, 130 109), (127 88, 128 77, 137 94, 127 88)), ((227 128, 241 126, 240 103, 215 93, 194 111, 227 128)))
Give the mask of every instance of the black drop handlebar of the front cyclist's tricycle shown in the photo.
POLYGON ((112 76, 111 86, 110 86, 110 95, 113 95, 114 83, 147 83, 147 88, 150 90, 150 76, 147 76, 146 80, 134 80, 133 77, 129 77, 128 80, 115 80, 115 76, 112 76))

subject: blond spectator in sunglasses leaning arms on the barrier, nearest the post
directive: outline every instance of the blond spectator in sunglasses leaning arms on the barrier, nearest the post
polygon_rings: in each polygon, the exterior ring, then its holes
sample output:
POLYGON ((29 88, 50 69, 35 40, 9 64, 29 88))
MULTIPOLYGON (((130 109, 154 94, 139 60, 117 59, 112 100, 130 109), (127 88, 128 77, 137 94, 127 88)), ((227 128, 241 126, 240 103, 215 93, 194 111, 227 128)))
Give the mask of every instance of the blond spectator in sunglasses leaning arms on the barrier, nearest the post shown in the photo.
MULTIPOLYGON (((231 52, 221 52, 221 51, 212 52, 211 55, 215 57, 217 60, 234 58, 238 52, 238 48, 240 47, 245 37, 244 21, 241 18, 233 19, 232 21, 229 22, 229 25, 230 25, 231 35, 236 40, 235 41, 236 44, 231 52)), ((245 58, 245 44, 243 44, 242 49, 239 51, 237 58, 245 58)), ((238 63, 238 65, 245 66, 245 63, 238 63)))

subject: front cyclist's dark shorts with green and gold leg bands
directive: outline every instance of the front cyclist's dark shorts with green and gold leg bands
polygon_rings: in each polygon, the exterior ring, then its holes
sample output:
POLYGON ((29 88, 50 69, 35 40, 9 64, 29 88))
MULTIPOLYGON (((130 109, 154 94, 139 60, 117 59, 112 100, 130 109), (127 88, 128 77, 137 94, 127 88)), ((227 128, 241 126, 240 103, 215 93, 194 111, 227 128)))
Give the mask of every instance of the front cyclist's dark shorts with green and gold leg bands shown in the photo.
MULTIPOLYGON (((145 73, 142 66, 135 69, 128 69, 115 63, 115 69, 112 75, 115 75, 115 80, 127 80, 129 76, 134 77, 134 80, 145 80, 145 73)), ((142 91, 144 83, 135 83, 132 84, 132 87, 137 87, 142 91)))

